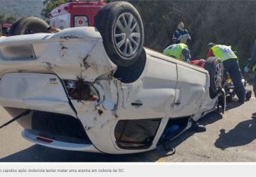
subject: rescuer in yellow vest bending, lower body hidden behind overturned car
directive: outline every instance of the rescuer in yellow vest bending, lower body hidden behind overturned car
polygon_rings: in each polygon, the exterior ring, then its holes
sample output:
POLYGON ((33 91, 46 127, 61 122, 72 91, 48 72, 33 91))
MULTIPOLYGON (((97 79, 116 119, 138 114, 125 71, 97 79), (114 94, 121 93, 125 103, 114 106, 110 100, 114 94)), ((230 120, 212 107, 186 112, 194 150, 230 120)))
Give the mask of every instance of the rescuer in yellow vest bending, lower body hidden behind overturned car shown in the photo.
POLYGON ((191 52, 188 49, 188 45, 183 43, 178 43, 166 47, 164 54, 185 62, 191 61, 191 52))

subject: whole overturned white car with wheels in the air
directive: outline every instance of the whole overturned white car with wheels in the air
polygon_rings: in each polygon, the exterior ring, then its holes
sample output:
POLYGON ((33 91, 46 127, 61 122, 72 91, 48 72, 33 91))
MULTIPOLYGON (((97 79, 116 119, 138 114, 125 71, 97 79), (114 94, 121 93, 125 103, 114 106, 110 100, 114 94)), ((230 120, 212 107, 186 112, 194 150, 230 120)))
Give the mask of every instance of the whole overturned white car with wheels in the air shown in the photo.
POLYGON ((97 30, 37 33, 38 23, 29 20, 13 30, 36 34, 0 38, 0 105, 31 142, 110 154, 149 151, 225 101, 220 60, 207 59, 203 69, 143 48, 142 20, 127 2, 102 8, 97 30))

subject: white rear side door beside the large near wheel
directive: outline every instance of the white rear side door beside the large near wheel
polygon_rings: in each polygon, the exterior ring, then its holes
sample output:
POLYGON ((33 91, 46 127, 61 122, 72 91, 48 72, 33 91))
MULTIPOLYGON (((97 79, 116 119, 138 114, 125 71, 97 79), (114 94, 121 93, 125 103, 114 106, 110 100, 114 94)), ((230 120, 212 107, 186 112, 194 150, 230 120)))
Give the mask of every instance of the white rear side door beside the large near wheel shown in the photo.
POLYGON ((122 119, 164 118, 171 115, 177 84, 176 63, 147 55, 140 79, 122 84, 122 119))

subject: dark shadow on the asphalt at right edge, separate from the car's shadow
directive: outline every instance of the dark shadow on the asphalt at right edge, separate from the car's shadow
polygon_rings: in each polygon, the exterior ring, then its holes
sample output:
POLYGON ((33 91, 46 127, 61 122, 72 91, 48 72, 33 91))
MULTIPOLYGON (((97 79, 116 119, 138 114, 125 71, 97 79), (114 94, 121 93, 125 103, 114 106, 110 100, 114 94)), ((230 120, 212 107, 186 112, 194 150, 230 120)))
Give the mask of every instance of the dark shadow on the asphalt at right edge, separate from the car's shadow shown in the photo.
POLYGON ((215 147, 226 149, 228 147, 239 147, 249 144, 256 139, 256 120, 245 120, 236 125, 233 130, 225 132, 220 130, 219 138, 215 142, 215 147))

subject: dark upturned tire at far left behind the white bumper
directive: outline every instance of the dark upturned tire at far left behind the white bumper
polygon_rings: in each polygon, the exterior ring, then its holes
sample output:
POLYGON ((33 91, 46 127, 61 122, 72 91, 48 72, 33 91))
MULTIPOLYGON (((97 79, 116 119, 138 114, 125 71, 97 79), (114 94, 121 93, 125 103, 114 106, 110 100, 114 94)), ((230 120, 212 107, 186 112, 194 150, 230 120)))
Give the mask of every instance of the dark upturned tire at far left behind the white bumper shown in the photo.
POLYGON ((9 35, 27 35, 34 33, 49 33, 50 25, 36 17, 25 17, 11 26, 9 35))

